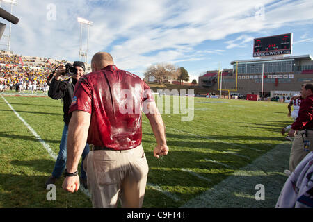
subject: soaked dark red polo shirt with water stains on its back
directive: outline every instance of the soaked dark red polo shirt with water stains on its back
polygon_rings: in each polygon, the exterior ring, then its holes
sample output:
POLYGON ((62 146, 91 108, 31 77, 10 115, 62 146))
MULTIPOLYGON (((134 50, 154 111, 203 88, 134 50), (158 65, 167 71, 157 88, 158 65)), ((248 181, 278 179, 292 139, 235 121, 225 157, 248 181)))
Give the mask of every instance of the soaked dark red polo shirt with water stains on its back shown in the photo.
POLYGON ((142 111, 152 101, 141 78, 109 65, 79 79, 70 112, 91 114, 88 144, 125 150, 141 144, 142 111))

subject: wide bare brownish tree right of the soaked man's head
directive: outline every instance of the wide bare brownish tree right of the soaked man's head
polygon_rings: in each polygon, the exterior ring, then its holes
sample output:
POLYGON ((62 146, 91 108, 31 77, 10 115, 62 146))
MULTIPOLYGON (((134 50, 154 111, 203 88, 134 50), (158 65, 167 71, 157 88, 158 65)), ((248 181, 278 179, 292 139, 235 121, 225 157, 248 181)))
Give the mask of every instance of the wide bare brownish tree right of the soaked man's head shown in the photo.
POLYGON ((170 63, 158 63, 147 67, 145 76, 154 76, 161 84, 164 80, 168 80, 169 77, 177 78, 178 70, 174 65, 170 63))

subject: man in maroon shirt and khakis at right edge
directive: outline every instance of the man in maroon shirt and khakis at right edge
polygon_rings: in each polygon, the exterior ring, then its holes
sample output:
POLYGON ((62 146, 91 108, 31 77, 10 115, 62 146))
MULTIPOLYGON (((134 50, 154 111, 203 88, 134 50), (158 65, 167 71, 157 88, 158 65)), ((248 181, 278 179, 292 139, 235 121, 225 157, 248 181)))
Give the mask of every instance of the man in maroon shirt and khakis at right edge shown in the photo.
POLYGON ((291 125, 288 135, 295 137, 292 143, 289 170, 294 171, 303 158, 313 151, 313 84, 301 86, 303 101, 300 104, 296 121, 291 125))

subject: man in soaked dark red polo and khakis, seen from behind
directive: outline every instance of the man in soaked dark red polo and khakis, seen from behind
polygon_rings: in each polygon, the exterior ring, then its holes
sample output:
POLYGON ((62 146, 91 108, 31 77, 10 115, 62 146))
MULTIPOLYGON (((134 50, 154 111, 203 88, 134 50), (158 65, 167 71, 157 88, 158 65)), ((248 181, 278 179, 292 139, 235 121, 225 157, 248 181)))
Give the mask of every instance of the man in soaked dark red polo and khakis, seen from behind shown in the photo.
POLYGON ((168 154, 165 128, 154 97, 141 78, 115 67, 109 53, 96 53, 92 71, 79 79, 70 112, 63 189, 79 189, 77 165, 83 144, 93 146, 83 167, 93 207, 141 207, 148 165, 141 146, 144 112, 157 140, 154 157, 168 154))

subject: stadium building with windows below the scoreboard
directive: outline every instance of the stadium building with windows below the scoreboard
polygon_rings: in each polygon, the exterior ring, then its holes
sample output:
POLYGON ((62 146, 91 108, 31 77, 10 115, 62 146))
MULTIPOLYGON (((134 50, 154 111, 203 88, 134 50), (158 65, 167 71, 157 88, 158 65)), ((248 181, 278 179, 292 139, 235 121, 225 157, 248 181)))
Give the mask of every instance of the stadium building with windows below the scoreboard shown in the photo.
MULTIPOLYGON (((254 51, 254 55, 260 54, 254 51)), ((313 60, 310 55, 266 55, 252 60, 234 60, 231 65, 233 69, 223 70, 221 75, 218 75, 218 71, 207 71, 199 77, 199 85, 207 88, 208 92, 218 92, 221 88, 243 95, 261 96, 263 92, 265 97, 270 97, 300 92, 303 83, 313 82, 313 60)), ((227 93, 223 91, 223 94, 227 93)))

